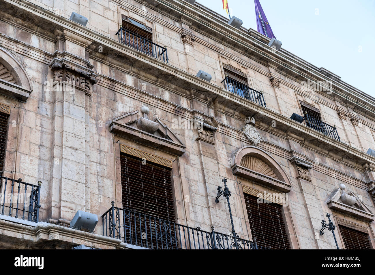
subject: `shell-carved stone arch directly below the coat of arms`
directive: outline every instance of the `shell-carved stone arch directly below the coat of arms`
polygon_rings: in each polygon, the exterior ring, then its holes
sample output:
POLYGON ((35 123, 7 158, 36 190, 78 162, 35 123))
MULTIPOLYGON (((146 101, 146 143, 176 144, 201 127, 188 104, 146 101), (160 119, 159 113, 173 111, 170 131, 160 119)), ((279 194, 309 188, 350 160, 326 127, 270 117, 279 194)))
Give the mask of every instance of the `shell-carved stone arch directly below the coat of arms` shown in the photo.
POLYGON ((292 183, 281 165, 266 151, 254 146, 240 148, 234 156, 235 175, 288 193, 292 183))

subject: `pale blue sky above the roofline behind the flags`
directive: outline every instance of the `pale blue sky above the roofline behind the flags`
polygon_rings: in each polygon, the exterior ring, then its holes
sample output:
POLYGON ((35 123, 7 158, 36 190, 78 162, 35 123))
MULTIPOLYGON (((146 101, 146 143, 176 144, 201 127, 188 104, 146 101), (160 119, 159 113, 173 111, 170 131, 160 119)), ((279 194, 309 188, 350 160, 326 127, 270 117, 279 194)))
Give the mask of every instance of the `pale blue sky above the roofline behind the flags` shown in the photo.
MULTIPOLYGON (((197 2, 227 16, 222 0, 197 2)), ((375 97, 375 0, 260 3, 282 48, 375 97)), ((228 4, 231 15, 242 19, 243 27, 257 30, 254 0, 228 0, 228 4)))

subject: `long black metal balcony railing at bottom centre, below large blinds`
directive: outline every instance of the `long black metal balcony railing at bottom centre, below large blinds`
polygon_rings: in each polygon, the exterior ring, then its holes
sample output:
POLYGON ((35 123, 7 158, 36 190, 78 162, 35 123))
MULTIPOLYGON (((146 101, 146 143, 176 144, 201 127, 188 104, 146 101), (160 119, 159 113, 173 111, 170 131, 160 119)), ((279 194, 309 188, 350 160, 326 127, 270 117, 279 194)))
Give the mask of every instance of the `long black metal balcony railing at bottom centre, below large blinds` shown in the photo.
POLYGON ((151 249, 269 249, 255 242, 201 230, 118 207, 102 215, 103 235, 151 249))

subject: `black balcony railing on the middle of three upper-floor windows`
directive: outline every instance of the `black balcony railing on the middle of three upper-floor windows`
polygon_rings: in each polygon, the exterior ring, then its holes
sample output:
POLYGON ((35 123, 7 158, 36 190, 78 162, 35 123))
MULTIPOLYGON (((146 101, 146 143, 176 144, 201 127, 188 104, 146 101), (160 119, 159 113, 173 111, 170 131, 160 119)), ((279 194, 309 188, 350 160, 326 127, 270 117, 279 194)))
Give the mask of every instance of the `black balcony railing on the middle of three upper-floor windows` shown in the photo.
POLYGON ((266 101, 264 101, 263 92, 258 92, 257 90, 254 90, 245 84, 231 79, 228 76, 226 76, 221 83, 223 82, 226 90, 266 107, 266 101))

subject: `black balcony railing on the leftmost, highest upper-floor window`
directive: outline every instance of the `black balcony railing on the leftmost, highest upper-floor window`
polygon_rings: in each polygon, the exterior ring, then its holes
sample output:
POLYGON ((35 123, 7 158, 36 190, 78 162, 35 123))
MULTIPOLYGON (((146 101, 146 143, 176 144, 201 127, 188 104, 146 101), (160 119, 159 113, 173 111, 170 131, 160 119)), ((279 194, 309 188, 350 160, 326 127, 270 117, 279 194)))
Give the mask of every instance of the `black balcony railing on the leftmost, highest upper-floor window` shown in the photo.
POLYGON ((166 47, 159 46, 144 37, 138 36, 137 34, 122 28, 122 26, 120 27, 120 30, 117 31, 116 35, 118 36, 118 42, 124 43, 140 52, 168 63, 166 47))

